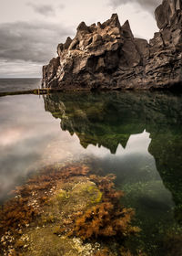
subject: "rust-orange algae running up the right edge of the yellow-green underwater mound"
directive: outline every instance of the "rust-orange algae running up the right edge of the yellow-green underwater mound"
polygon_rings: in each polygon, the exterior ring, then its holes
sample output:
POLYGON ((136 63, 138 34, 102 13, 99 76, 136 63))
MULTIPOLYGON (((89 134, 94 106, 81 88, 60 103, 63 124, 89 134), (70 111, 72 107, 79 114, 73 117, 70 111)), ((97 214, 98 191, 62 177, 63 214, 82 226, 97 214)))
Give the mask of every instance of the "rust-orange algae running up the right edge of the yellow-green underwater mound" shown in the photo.
POLYGON ((103 193, 102 202, 88 208, 74 221, 69 235, 75 235, 82 240, 98 237, 119 237, 124 239, 140 231, 131 225, 135 212, 131 208, 122 208, 121 191, 116 191, 113 180, 116 176, 90 176, 103 193))

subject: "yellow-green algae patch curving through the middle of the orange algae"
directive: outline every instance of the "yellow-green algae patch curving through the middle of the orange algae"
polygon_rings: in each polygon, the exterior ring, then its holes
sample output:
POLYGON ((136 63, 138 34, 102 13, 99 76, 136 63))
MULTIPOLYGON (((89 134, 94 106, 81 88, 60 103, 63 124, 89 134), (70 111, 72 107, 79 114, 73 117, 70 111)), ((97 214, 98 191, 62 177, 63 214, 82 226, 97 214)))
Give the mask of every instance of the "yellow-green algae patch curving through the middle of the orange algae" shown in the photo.
POLYGON ((41 217, 36 220, 37 227, 25 232, 28 242, 23 255, 94 255, 95 243, 83 244, 82 240, 70 239, 62 234, 61 227, 71 221, 69 216, 73 212, 86 210, 101 199, 102 193, 96 184, 86 177, 75 177, 70 182, 60 184, 45 205, 41 217))

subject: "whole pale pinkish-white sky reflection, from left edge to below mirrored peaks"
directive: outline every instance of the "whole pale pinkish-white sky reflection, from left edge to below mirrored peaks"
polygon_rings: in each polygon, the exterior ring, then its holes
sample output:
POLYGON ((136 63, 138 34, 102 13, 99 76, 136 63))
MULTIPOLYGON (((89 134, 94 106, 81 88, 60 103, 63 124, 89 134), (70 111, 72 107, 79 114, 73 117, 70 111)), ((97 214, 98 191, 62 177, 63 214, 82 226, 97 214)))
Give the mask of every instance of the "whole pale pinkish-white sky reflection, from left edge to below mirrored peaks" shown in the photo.
MULTIPOLYGON (((131 172, 149 166, 159 178, 155 159, 147 151, 149 133, 133 134, 126 148, 118 145, 116 155, 104 147, 84 149, 76 134, 60 129, 60 120, 45 112, 42 98, 33 95, 0 99, 0 200, 29 173, 43 165, 95 155, 111 169, 131 172)), ((133 173, 132 173, 133 172, 133 173)))

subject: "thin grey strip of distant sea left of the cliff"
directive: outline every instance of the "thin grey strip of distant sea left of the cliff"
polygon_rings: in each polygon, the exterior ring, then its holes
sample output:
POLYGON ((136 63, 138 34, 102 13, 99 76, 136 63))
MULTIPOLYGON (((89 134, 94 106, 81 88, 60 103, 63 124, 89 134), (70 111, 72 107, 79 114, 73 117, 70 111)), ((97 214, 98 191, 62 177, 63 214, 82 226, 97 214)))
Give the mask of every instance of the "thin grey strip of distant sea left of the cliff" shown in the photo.
POLYGON ((41 79, 0 79, 0 92, 24 91, 41 87, 41 79))

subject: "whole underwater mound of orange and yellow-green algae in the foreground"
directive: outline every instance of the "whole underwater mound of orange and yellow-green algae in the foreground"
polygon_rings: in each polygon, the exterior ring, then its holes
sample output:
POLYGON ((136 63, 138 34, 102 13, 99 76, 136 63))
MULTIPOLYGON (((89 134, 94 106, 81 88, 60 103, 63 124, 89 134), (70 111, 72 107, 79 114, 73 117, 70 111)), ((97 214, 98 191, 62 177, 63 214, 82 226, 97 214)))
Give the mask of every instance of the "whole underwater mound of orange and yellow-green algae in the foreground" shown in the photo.
POLYGON ((0 210, 1 255, 132 255, 125 241, 140 229, 114 179, 88 165, 43 168, 0 210))

